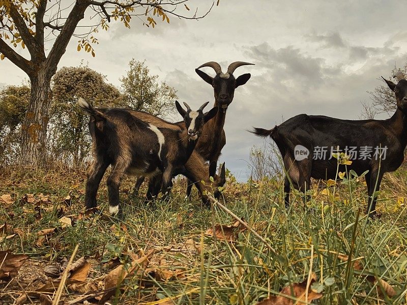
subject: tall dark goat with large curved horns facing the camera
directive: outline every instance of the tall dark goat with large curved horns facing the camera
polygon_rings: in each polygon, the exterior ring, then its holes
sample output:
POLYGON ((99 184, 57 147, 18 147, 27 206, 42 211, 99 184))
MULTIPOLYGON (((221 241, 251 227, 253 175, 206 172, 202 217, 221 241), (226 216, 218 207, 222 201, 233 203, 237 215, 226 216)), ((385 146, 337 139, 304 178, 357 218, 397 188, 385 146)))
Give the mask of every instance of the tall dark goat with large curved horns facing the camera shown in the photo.
MULTIPOLYGON (((212 85, 214 89, 215 104, 214 107, 218 106, 223 111, 218 111, 217 115, 213 120, 203 127, 202 137, 199 138, 198 143, 195 146, 197 153, 205 160, 209 161, 210 164, 213 162, 216 164, 221 155, 221 150, 226 144, 226 136, 223 130, 225 124, 226 110, 234 98, 235 89, 241 85, 244 85, 250 79, 250 73, 240 75, 238 78, 235 78, 233 73, 235 70, 241 66, 245 65, 254 65, 245 62, 234 62, 231 63, 226 73, 222 72, 222 68, 216 62, 205 63, 195 69, 195 72, 205 80, 207 83, 212 85), (215 70, 215 77, 212 77, 206 74, 203 71, 200 71, 200 68, 210 67, 215 70)), ((185 123, 180 121, 176 123, 181 128, 185 128, 185 123)), ((137 179, 136 185, 134 187, 134 194, 138 193, 138 190, 144 180, 144 177, 139 177, 137 179)), ((153 182, 156 183, 156 182, 153 182)), ((191 195, 193 182, 188 181, 187 186, 187 195, 186 198, 189 198, 191 195)))

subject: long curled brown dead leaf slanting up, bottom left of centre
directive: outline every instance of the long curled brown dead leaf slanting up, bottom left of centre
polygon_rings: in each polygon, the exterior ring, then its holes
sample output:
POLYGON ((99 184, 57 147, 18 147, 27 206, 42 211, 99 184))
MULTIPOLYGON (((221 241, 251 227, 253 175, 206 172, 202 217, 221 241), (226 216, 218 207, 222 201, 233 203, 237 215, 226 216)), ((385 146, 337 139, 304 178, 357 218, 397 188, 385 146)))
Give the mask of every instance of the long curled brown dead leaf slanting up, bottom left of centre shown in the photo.
POLYGON ((120 265, 109 272, 105 278, 105 293, 99 303, 104 303, 114 294, 114 288, 118 287, 129 275, 141 275, 149 265, 155 250, 150 250, 146 255, 134 260, 129 266, 120 265))

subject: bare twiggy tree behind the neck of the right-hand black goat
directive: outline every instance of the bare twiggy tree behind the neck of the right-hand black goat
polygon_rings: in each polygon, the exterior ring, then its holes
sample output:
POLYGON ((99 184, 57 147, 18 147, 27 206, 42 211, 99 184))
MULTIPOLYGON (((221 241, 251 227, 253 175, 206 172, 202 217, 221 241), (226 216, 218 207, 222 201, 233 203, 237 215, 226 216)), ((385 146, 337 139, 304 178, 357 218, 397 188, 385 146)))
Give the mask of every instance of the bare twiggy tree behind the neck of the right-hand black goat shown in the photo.
MULTIPOLYGON (((393 75, 396 71, 401 70, 404 75, 407 74, 407 64, 404 65, 402 69, 394 68, 388 79, 393 79, 393 75)), ((382 78, 380 78, 383 80, 382 78)), ((371 119, 374 118, 376 114, 387 113, 392 115, 397 109, 396 97, 394 92, 389 88, 389 86, 383 81, 383 84, 374 88, 373 91, 367 92, 370 95, 371 104, 362 102, 363 110, 361 113, 362 118, 371 119)))

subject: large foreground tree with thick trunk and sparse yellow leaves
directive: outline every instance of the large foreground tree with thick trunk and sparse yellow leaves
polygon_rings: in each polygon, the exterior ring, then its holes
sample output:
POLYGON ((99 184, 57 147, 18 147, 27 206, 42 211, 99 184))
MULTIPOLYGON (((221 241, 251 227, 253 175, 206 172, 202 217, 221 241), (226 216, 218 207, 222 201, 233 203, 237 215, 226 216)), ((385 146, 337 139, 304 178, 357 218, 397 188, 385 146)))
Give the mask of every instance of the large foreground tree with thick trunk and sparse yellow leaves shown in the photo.
POLYGON ((178 6, 187 11, 186 0, 0 0, 0 59, 8 58, 30 78, 31 98, 21 126, 22 164, 42 166, 46 161, 46 134, 48 109, 52 100, 51 78, 55 74, 69 41, 79 38, 78 51, 84 49, 95 56, 96 33, 107 30, 111 19, 120 20, 130 27, 132 17, 146 26, 155 27, 155 18, 169 23, 168 16, 185 19, 205 17, 197 11, 191 16, 179 13, 178 6), (93 25, 82 25, 82 33, 75 33, 86 11, 93 25), (145 19, 144 19, 145 18, 145 19), (143 21, 144 20, 144 21, 143 21), (85 33, 83 33, 85 29, 85 33), (45 45, 45 41, 47 45, 45 45), (27 49, 28 60, 12 47, 27 49), (46 50, 49 50, 46 54, 46 50))

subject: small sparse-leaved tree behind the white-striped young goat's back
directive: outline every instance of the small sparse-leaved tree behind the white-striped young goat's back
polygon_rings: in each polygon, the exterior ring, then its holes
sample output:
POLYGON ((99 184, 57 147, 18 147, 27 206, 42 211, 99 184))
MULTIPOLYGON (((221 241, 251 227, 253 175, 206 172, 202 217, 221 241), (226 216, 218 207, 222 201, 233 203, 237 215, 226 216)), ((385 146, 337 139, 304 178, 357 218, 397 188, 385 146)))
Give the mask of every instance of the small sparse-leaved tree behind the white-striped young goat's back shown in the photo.
POLYGON ((177 91, 165 82, 158 82, 158 75, 150 75, 144 62, 130 60, 129 71, 120 80, 124 103, 137 110, 153 115, 168 116, 174 113, 177 91))

